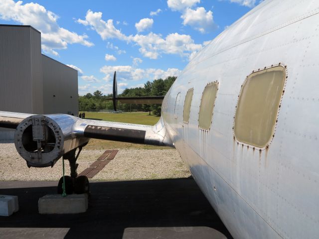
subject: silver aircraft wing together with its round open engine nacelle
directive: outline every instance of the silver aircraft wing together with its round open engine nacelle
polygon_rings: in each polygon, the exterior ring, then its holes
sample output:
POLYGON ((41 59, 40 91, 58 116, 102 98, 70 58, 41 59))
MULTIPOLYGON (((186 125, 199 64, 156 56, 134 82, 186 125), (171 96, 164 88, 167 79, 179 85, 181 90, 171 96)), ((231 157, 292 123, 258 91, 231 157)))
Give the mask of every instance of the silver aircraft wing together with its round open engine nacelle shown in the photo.
POLYGON ((85 146, 90 138, 174 147, 162 118, 151 126, 64 114, 0 111, 0 127, 15 129, 15 148, 27 165, 33 167, 53 166, 67 152, 85 146))

